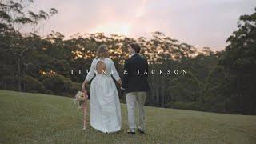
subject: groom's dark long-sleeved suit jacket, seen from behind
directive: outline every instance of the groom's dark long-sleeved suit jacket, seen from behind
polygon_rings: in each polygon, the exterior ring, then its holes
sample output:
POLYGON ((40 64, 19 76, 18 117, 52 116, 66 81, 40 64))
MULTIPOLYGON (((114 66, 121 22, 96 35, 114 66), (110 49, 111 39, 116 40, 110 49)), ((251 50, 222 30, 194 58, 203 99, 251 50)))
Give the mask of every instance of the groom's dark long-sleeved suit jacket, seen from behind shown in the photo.
POLYGON ((139 54, 134 54, 126 59, 122 76, 122 87, 126 89, 126 93, 150 90, 147 82, 148 74, 145 71, 148 73, 146 58, 142 58, 139 54), (125 74, 126 72, 128 74, 125 74))

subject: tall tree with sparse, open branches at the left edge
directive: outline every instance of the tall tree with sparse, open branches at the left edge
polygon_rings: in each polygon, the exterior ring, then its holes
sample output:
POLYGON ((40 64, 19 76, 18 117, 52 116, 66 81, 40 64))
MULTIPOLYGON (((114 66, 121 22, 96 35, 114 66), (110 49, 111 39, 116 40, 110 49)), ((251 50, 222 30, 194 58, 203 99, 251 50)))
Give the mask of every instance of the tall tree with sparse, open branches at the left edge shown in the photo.
POLYGON ((40 26, 38 29, 36 29, 35 26, 37 26, 41 20, 46 20, 57 13, 57 10, 52 8, 49 14, 42 10, 39 10, 38 14, 34 14, 32 11, 28 11, 28 14, 26 14, 24 8, 27 3, 30 4, 31 2, 33 2, 33 0, 0 1, 0 34, 2 35, 0 37, 0 48, 5 54, 11 55, 17 60, 15 61, 15 67, 17 71, 16 76, 18 77, 18 90, 22 90, 22 70, 26 70, 28 66, 32 65, 31 62, 26 63, 24 54, 27 50, 35 48, 33 42, 27 43, 23 41, 24 39, 22 39, 22 34, 19 30, 24 25, 34 25, 33 37, 34 33, 40 29, 40 26))

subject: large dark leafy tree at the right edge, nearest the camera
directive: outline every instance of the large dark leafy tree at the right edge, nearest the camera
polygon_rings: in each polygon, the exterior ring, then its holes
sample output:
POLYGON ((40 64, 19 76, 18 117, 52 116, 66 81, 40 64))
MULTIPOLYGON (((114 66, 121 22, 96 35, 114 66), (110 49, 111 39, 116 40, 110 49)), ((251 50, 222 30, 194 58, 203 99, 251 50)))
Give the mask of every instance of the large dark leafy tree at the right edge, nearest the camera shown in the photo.
POLYGON ((230 95, 236 100, 240 113, 256 114, 256 12, 242 15, 238 30, 226 42, 230 45, 219 65, 224 66, 230 75, 229 81, 234 82, 230 95))

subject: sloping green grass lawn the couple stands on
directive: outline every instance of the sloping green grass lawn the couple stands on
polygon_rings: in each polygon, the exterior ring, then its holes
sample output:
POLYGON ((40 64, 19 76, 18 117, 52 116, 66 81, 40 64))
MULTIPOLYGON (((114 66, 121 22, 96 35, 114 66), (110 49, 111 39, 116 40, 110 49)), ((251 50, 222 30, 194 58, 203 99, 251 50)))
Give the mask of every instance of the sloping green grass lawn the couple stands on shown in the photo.
MULTIPOLYGON (((88 115, 89 116, 89 115, 88 115)), ((89 118, 89 117, 88 117, 89 118)), ((82 130, 71 98, 0 90, 0 143, 256 143, 256 116, 146 106, 146 134, 82 130)))

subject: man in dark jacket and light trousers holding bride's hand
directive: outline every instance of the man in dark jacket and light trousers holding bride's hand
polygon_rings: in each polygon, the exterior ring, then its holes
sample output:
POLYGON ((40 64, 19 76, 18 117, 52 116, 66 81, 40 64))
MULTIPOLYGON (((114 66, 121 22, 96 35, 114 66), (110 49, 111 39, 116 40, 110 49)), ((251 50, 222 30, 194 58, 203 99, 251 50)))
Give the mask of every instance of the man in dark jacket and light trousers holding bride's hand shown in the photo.
POLYGON ((124 74, 122 76, 121 90, 126 92, 126 103, 128 110, 128 123, 130 130, 128 134, 135 134, 136 124, 134 118, 135 103, 139 109, 138 131, 144 134, 145 130, 145 113, 144 103, 146 100, 146 91, 150 90, 147 82, 148 63, 146 58, 139 54, 141 47, 138 43, 131 43, 128 51, 130 58, 126 59, 124 65, 124 74))

